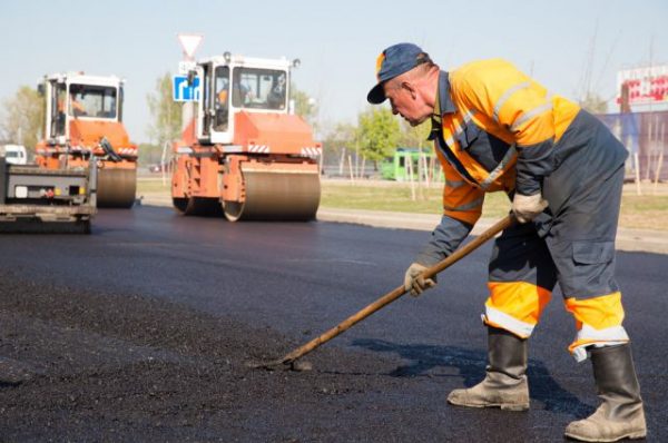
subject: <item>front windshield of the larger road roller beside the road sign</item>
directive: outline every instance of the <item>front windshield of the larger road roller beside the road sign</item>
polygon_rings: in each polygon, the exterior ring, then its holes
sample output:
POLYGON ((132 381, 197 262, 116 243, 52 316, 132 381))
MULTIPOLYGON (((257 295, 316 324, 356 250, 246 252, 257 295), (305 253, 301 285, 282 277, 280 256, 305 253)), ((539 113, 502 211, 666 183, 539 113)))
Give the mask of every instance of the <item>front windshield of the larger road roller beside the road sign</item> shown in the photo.
POLYGON ((283 110, 287 105, 287 72, 273 69, 235 68, 232 105, 236 108, 283 110))

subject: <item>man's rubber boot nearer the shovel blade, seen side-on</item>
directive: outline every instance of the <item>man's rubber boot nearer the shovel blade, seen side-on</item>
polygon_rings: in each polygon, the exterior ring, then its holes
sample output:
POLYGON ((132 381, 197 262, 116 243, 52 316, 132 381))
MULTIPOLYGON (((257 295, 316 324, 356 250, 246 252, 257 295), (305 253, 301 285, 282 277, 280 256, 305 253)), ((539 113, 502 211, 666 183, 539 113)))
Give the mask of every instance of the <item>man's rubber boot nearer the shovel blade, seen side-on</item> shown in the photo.
POLYGON ((527 382, 527 339, 495 327, 488 327, 488 358, 484 380, 468 390, 454 390, 448 402, 458 406, 529 408, 527 382))

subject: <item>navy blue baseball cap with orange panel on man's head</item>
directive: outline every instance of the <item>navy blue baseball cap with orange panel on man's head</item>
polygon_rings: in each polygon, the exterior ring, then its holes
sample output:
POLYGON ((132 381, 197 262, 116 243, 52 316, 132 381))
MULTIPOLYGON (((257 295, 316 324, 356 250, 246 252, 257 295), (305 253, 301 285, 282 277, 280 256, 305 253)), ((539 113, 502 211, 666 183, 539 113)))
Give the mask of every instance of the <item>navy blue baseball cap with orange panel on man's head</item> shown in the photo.
POLYGON ((383 83, 410 71, 419 65, 429 61, 429 55, 413 43, 397 43, 385 49, 376 59, 376 79, 379 82, 371 88, 366 100, 372 105, 385 101, 383 83))

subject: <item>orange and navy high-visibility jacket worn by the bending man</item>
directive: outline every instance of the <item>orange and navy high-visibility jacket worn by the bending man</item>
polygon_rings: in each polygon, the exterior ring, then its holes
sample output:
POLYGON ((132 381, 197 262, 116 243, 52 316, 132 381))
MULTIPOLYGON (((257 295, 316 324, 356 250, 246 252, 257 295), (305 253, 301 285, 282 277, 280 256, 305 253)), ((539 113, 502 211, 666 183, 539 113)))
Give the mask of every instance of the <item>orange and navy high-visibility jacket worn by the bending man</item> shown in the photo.
MULTIPOLYGON (((438 105, 430 139, 445 173, 443 218, 416 257, 424 265, 466 237, 485 193, 542 191, 557 215, 577 188, 572 180, 609 186, 607 178, 628 156, 600 120, 501 59, 440 72, 438 105)), ((549 232, 551 218, 537 217, 539 235, 549 232)))

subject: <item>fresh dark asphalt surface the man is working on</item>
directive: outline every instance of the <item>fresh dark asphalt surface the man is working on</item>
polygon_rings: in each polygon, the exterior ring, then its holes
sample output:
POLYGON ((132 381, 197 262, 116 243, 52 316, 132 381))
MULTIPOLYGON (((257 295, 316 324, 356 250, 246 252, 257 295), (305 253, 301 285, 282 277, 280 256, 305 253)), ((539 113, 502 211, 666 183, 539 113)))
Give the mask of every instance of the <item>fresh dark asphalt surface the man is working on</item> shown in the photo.
MULTIPOLYGON (((275 358, 401 284, 425 232, 101 210, 90 236, 0 236, 2 441, 562 441, 597 406, 556 293, 530 342, 531 410, 466 410, 484 375, 490 245, 310 354, 275 358)), ((648 441, 668 441, 668 256, 618 254, 648 441)))

